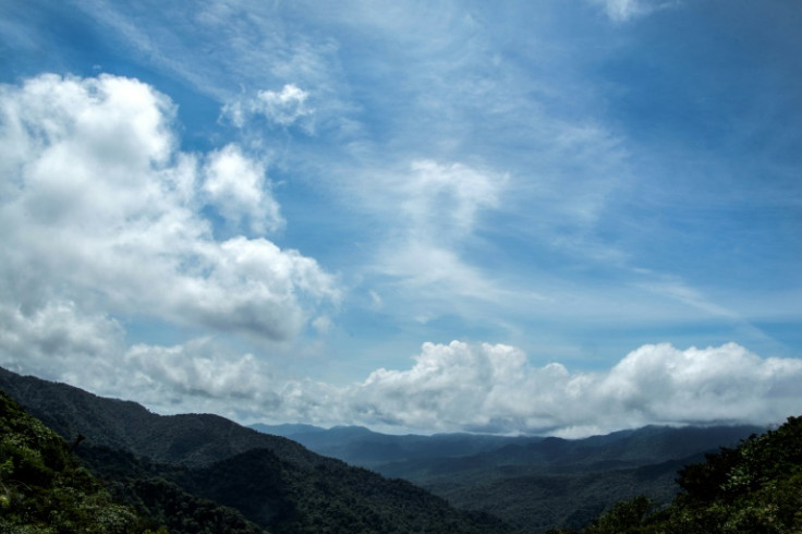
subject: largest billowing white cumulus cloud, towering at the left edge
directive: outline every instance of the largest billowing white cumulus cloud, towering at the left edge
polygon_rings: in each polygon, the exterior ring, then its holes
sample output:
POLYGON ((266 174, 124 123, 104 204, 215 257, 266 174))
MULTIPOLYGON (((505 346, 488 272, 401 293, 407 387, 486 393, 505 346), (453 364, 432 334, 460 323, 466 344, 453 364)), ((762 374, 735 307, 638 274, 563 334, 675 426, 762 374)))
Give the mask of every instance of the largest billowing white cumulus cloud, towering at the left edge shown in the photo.
POLYGON ((336 302, 335 278, 232 224, 282 222, 264 165, 178 149, 174 106, 136 80, 45 74, 0 87, 0 296, 287 341, 336 302), (244 215, 243 215, 244 214, 244 215))

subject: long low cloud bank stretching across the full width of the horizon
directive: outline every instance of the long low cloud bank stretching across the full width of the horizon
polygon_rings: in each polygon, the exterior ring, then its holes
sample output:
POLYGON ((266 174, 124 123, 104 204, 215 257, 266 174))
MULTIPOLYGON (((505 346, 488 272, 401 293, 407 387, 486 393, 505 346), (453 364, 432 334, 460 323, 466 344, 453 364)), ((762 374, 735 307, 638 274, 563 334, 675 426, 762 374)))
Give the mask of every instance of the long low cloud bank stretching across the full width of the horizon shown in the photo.
POLYGON ((0 306, 0 365, 160 413, 207 411, 252 422, 361 424, 392 432, 580 437, 647 424, 767 424, 802 413, 802 361, 736 343, 647 344, 607 371, 532 365, 507 344, 424 343, 408 369, 337 386, 277 376, 212 338, 125 345, 116 320, 52 302, 0 306), (76 371, 80 369, 80 371, 76 371))

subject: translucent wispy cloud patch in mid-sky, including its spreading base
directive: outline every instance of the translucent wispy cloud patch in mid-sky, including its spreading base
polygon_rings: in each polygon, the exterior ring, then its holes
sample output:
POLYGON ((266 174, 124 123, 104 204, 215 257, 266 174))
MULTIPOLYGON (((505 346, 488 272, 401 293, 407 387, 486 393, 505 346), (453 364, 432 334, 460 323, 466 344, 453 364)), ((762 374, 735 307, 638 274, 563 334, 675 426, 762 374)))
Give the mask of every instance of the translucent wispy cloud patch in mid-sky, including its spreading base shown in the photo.
POLYGON ((349 189, 378 222, 380 241, 362 269, 363 283, 380 295, 370 308, 382 305, 401 320, 425 324, 449 314, 473 317, 477 303, 509 303, 520 295, 466 253, 472 246, 486 259, 489 246, 477 233, 483 218, 502 207, 508 181, 506 173, 476 165, 414 159, 349 189))

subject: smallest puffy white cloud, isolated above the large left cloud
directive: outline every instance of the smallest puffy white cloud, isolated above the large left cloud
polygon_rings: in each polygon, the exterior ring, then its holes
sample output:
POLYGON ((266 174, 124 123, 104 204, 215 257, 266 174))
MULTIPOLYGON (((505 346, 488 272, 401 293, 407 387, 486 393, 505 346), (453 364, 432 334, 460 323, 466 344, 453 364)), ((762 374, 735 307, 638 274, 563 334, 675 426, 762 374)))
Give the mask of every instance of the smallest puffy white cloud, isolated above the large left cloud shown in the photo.
MULTIPOLYGON (((269 123, 279 126, 291 126, 303 122, 314 110, 306 104, 309 94, 293 84, 284 85, 281 90, 259 90, 254 96, 243 97, 227 104, 222 109, 238 128, 245 125, 252 117, 264 117, 269 123)), ((305 122, 304 128, 312 125, 305 122)))

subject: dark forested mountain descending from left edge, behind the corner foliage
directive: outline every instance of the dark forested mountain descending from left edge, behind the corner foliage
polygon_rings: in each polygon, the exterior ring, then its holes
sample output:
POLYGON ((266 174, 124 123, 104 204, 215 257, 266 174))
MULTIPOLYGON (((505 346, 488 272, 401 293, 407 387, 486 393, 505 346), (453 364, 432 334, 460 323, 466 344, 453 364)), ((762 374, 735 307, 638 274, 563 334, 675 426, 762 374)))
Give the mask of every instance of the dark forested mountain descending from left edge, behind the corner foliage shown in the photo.
POLYGON ((133 402, 5 369, 0 369, 0 389, 64 439, 84 436, 76 452, 86 464, 151 515, 194 515, 221 503, 274 533, 515 531, 489 514, 458 510, 409 482, 223 417, 161 416, 133 402))

